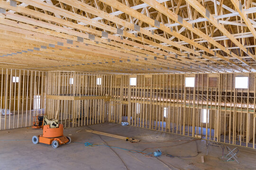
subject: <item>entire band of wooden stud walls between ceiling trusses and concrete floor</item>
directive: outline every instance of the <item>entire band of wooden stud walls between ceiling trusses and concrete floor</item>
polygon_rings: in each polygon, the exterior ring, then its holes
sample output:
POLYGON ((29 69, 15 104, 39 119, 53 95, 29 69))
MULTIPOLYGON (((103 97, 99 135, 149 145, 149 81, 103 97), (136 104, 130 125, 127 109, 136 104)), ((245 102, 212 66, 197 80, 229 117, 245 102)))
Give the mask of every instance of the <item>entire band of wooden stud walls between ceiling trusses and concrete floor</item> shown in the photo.
POLYGON ((0 81, 1 129, 31 126, 33 116, 45 110, 65 127, 128 121, 255 148, 255 73, 100 75, 1 69, 0 81), (12 82, 13 76, 20 81, 12 82), (185 86, 189 76, 195 78, 194 87, 185 86), (248 88, 236 88, 236 76, 248 76, 248 88), (37 98, 40 109, 33 110, 37 98), (2 114, 7 109, 13 115, 2 114))

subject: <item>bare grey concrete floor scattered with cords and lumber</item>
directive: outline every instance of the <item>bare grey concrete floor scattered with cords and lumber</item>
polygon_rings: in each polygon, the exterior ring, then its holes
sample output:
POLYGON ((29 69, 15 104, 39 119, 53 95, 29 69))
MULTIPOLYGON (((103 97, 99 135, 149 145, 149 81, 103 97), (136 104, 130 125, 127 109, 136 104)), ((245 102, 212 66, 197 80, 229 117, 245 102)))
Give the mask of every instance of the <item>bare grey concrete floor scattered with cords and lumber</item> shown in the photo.
MULTIPOLYGON (((42 133, 30 127, 0 131, 0 170, 255 170, 256 151, 239 147, 236 161, 221 160, 221 149, 209 147, 209 141, 194 140, 186 136, 167 134, 139 127, 123 127, 119 124, 97 124, 89 127, 65 128, 64 135, 71 136, 72 143, 54 149, 51 145, 32 144, 32 136, 42 133), (85 129, 129 136, 140 139, 140 143, 130 143, 109 136, 99 136, 85 129), (79 131, 81 130, 81 131, 79 131), (77 132, 79 131, 79 132, 77 132), (154 152, 159 148, 163 155, 158 159, 142 154, 130 153, 106 146, 85 147, 84 142, 104 144, 132 150, 154 152), (152 143, 153 142, 153 143, 152 143), (150 149, 151 148, 151 149, 150 149), (195 156, 191 158, 167 157, 195 156), (204 156, 205 163, 201 163, 204 156)), ((235 146, 230 145, 234 148, 235 146)), ((227 154, 227 150, 224 151, 227 154)))

